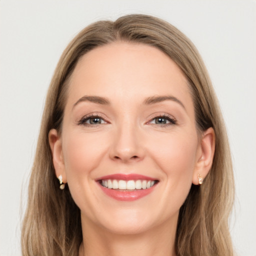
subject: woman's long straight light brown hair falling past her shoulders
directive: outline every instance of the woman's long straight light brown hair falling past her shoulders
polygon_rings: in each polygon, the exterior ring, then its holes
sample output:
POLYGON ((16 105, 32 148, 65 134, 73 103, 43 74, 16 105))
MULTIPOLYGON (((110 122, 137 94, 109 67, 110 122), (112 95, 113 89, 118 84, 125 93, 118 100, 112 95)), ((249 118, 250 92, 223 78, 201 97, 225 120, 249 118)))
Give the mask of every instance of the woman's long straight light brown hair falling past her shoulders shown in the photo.
POLYGON ((227 135, 207 70, 191 41, 169 23, 149 15, 132 14, 116 21, 97 21, 68 44, 53 74, 44 106, 31 171, 27 209, 22 226, 23 255, 78 255, 82 241, 80 210, 68 186, 62 191, 54 173, 48 143, 51 128, 61 132, 69 78, 78 59, 113 41, 157 47, 183 71, 191 89, 197 130, 213 127, 215 153, 201 186, 192 185, 179 211, 177 255, 233 255, 228 216, 233 202, 233 174, 227 135))

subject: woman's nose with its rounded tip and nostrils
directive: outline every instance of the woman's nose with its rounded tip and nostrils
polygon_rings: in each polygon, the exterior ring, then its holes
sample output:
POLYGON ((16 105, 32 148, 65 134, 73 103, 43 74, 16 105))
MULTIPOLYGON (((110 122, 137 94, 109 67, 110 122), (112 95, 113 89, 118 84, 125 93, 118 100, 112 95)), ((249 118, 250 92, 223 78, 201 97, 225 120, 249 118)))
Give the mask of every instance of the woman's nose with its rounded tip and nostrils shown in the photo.
POLYGON ((126 123, 115 130, 109 151, 111 159, 133 162, 142 160, 144 155, 142 136, 137 127, 126 123))

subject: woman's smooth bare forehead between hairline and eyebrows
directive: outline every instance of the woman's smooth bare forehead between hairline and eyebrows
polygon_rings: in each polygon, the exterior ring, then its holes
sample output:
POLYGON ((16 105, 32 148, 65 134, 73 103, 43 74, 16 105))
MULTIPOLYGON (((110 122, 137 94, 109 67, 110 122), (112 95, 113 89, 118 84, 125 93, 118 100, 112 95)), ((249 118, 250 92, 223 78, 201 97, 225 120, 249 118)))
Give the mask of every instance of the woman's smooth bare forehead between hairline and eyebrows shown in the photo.
POLYGON ((140 100, 174 94, 191 101, 185 76, 164 52, 142 43, 113 42, 84 54, 70 80, 68 101, 83 95, 140 100))

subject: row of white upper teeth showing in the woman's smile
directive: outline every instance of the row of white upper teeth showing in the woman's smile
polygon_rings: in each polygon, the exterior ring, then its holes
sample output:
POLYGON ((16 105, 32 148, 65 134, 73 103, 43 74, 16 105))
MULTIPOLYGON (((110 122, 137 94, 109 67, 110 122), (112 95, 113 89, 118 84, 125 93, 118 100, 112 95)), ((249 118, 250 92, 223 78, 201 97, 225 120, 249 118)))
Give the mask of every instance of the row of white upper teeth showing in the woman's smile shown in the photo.
POLYGON ((155 180, 116 180, 116 179, 103 179, 101 185, 106 188, 120 189, 120 190, 134 190, 134 189, 146 189, 155 184, 155 180))

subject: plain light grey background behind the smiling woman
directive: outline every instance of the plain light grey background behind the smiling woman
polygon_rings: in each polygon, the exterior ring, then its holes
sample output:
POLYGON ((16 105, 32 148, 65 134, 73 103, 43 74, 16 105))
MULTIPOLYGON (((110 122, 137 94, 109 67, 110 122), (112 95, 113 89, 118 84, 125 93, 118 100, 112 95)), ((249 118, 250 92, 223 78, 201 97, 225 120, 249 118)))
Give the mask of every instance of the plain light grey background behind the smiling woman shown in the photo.
POLYGON ((21 255, 20 206, 26 204, 45 93, 61 52, 85 25, 126 13, 166 19, 200 51, 232 150, 232 239, 238 255, 255 256, 254 0, 0 0, 0 256, 21 255))

